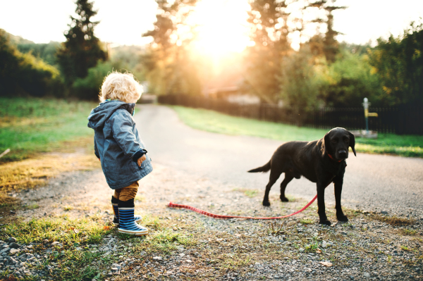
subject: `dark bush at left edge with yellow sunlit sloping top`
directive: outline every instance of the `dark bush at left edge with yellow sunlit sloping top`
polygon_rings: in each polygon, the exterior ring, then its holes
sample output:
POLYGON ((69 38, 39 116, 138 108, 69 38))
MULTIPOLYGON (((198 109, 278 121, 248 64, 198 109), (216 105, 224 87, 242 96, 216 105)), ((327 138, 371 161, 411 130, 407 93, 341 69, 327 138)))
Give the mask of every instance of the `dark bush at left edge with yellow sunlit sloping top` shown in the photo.
POLYGON ((0 30, 0 61, 0 96, 61 92, 59 70, 32 54, 22 54, 9 42, 4 30, 0 30))

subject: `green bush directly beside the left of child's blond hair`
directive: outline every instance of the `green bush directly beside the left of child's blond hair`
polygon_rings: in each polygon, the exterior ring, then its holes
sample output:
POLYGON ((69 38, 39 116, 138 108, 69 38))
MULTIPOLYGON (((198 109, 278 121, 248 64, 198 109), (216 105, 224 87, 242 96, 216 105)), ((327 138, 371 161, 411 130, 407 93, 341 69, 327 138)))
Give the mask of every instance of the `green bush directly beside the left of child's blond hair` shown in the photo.
POLYGON ((73 82, 74 96, 81 99, 95 100, 99 96, 104 77, 114 70, 109 61, 99 62, 88 70, 88 75, 73 82))

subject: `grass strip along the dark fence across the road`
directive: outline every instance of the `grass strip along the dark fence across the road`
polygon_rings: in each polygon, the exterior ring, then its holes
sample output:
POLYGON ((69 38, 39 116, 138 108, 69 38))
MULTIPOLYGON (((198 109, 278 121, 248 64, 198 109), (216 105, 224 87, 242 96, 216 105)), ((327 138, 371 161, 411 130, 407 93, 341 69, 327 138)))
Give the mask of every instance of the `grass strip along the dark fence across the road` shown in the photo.
MULTIPOLYGON (((312 129, 271 123, 248 118, 233 117, 205 109, 171 106, 186 125, 198 130, 226 135, 247 135, 277 139, 312 141, 321 139, 327 130, 312 129)), ((407 157, 423 157, 423 136, 379 134, 378 139, 355 139, 355 149, 369 154, 394 154, 407 157)))

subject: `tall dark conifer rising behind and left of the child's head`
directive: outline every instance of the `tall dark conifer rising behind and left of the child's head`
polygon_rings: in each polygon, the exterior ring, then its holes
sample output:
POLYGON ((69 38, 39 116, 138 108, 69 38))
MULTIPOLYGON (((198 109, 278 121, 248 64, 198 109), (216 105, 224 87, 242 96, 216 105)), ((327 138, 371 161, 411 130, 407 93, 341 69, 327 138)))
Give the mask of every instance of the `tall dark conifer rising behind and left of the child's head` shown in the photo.
MULTIPOLYGON (((88 74, 88 68, 97 65, 97 61, 106 60, 107 53, 100 46, 99 39, 94 36, 94 27, 99 22, 92 22, 91 18, 97 14, 93 10, 94 2, 77 0, 75 2, 77 18, 71 16, 69 30, 64 33, 66 42, 59 49, 57 58, 61 66, 67 87, 71 87, 75 79, 88 74)), ((94 96, 81 96, 92 99, 94 96)))

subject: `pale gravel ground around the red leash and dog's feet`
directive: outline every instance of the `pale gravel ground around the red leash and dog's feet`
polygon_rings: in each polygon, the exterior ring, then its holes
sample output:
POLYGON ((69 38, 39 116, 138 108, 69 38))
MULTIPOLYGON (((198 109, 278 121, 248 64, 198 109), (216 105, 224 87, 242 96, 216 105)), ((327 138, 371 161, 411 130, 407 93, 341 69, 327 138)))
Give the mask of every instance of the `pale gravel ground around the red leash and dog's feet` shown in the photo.
MULTIPOLYGON (((216 185, 158 163, 154 170, 140 182, 142 201, 135 201, 135 206, 142 216, 157 218, 160 227, 149 225, 146 238, 129 240, 114 231, 91 245, 102 256, 114 257, 107 268, 99 267, 102 280, 423 280, 423 221, 419 218, 409 217, 410 225, 390 225, 384 221, 389 216, 370 208, 345 210, 350 222, 341 224, 336 223, 333 206, 328 204, 326 212, 333 225, 327 227, 317 223, 313 204, 284 220, 219 220, 166 208, 166 203, 171 200, 219 214, 278 216, 298 210, 306 201, 290 197, 290 202, 282 204, 277 196, 271 196, 272 206, 265 208, 262 191, 251 195, 243 187, 216 185), (190 237, 191 242, 171 242, 166 251, 137 246, 138 241, 147 243, 162 230, 190 237), (124 254, 122 249, 126 249, 124 254)), ((37 192, 23 192, 23 204, 36 199, 40 208, 16 212, 29 220, 42 218, 44 213, 82 218, 100 210, 99 219, 109 223, 110 194, 101 171, 64 173, 37 192), (59 197, 57 208, 44 208, 53 193, 66 196, 59 197), (70 211, 61 207, 79 206, 81 201, 92 201, 92 206, 70 211)), ((62 246, 49 240, 22 244, 13 237, 0 241, 0 274, 49 280, 58 265, 43 265, 62 246)), ((81 246, 75 250, 84 251, 81 246)))

